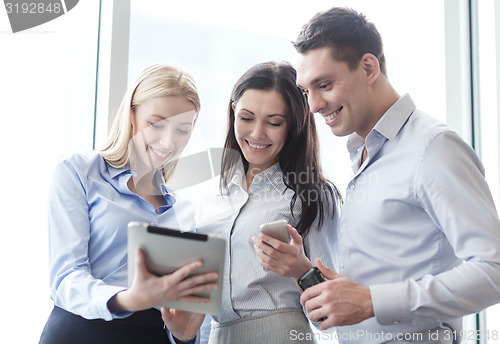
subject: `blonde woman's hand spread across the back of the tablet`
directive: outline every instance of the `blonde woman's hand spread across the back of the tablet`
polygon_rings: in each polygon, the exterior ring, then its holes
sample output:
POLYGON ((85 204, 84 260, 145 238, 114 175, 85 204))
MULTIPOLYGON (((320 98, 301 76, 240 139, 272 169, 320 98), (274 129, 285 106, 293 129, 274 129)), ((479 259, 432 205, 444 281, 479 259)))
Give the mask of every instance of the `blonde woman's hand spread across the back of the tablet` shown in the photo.
POLYGON ((217 273, 209 272, 188 277, 202 266, 197 260, 188 263, 175 272, 158 277, 146 268, 144 253, 136 253, 134 280, 129 289, 116 294, 108 302, 111 312, 137 312, 171 301, 208 303, 207 297, 196 296, 206 290, 217 288, 217 273))

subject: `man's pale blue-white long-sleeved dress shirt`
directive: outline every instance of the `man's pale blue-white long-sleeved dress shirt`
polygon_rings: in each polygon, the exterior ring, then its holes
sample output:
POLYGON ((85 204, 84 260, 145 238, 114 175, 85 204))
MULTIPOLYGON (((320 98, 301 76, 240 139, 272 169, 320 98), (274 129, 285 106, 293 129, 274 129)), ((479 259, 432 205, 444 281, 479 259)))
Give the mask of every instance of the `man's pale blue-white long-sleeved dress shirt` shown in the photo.
POLYGON ((351 135, 336 269, 370 286, 375 318, 338 327, 339 338, 460 331, 461 316, 500 301, 500 222, 481 162, 408 95, 369 133, 360 166, 363 147, 351 135))

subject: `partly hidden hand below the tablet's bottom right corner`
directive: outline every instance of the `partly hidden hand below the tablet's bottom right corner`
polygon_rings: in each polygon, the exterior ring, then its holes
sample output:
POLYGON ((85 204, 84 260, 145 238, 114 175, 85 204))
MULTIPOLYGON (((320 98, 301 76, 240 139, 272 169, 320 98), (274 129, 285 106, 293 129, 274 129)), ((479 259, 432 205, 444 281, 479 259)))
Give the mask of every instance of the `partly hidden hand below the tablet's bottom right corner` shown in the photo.
POLYGON ((176 339, 187 342, 196 336, 205 314, 162 307, 161 318, 176 339))

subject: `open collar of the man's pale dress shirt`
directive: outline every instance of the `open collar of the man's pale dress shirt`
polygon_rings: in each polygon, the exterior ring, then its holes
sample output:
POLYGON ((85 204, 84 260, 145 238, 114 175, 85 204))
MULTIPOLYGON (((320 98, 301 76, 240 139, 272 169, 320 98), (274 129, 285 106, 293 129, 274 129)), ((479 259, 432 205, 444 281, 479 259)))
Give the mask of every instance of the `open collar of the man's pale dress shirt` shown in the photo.
MULTIPOLYGON (((397 102, 385 112, 385 114, 378 120, 367 138, 376 131, 385 138, 392 140, 399 133, 408 118, 415 111, 416 106, 409 94, 405 94, 399 98, 397 102)), ((347 140, 347 150, 349 153, 356 152, 365 142, 356 133, 349 136, 347 140)))

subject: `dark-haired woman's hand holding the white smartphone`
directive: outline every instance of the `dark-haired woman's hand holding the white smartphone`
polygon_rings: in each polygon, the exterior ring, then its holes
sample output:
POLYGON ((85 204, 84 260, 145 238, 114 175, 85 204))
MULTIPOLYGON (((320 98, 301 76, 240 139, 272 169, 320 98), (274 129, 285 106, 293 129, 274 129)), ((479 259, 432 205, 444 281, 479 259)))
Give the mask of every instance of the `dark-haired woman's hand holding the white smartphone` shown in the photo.
POLYGON ((264 233, 259 234, 260 240, 252 237, 252 241, 259 264, 264 269, 280 276, 293 277, 297 281, 313 265, 304 253, 300 234, 290 225, 287 230, 291 237, 289 244, 264 233))

